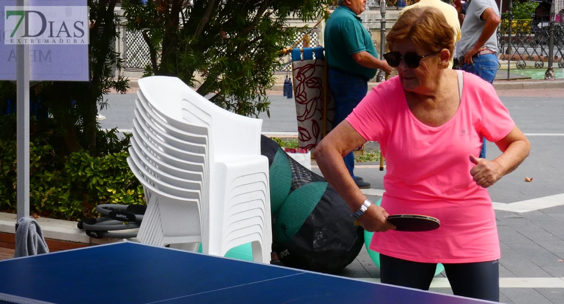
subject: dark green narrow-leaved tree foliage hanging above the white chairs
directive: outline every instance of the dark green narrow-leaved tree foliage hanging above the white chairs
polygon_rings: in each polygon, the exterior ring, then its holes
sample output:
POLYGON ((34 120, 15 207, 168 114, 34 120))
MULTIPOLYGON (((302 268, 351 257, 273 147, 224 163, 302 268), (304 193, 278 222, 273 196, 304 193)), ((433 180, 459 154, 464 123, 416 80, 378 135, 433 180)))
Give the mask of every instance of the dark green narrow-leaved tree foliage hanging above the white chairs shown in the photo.
POLYGON ((176 76, 216 105, 245 116, 268 112, 280 49, 303 27, 327 17, 331 0, 124 0, 128 30, 143 31, 151 64, 145 75, 176 76), (160 61, 155 60, 156 54, 160 61))

